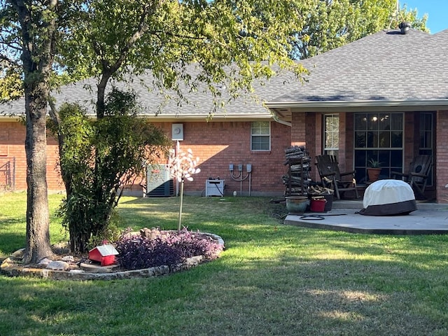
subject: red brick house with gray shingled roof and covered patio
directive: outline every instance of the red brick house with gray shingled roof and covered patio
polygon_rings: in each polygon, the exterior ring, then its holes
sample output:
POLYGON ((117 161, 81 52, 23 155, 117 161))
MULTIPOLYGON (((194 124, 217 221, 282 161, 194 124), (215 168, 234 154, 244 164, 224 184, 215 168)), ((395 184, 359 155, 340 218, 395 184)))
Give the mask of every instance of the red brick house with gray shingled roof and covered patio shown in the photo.
MULTIPOLYGON (((433 155, 426 196, 444 203, 448 202, 448 30, 433 35, 414 29, 406 33, 379 31, 305 59, 301 62, 309 76, 304 83, 290 73, 280 73, 255 87, 259 100, 241 96, 209 121, 208 94, 191 94, 188 99, 193 104, 180 107, 168 102, 156 116, 161 96, 138 84, 134 89, 139 91, 144 116, 169 136, 173 125, 182 125, 181 149, 191 148, 200 157, 201 173, 186 183, 186 193, 204 195, 207 179, 219 176, 225 179, 226 194, 241 190, 244 195, 283 195, 283 149, 304 144, 311 157, 337 155, 342 170, 356 169, 361 185, 366 181, 368 158, 383 162, 381 178, 388 178, 393 171, 405 172, 414 156, 433 155), (232 179, 230 164, 234 173, 237 165, 243 165, 243 176, 250 164, 250 179, 232 179)), ((84 84, 64 87, 56 96, 58 104, 87 102, 84 84)), ((6 179, 4 162, 15 160, 17 190, 26 189, 25 127, 8 114, 22 113, 20 104, 3 106, 5 116, 0 117, 0 184, 6 179)), ((49 138, 50 190, 63 189, 56 162, 57 146, 49 138)), ((316 169, 311 178, 318 181, 316 169)))

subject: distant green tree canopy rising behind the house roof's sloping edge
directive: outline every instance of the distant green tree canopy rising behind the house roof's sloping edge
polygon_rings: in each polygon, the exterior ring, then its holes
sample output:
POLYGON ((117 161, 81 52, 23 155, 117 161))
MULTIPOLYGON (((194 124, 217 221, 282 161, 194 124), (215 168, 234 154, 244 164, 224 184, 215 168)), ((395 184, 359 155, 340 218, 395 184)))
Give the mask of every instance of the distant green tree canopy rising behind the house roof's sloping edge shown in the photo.
POLYGON ((396 0, 316 0, 304 18, 302 29, 293 31, 290 56, 309 58, 381 29, 396 29, 400 22, 428 31, 427 15, 418 18, 416 9, 397 6, 396 0))

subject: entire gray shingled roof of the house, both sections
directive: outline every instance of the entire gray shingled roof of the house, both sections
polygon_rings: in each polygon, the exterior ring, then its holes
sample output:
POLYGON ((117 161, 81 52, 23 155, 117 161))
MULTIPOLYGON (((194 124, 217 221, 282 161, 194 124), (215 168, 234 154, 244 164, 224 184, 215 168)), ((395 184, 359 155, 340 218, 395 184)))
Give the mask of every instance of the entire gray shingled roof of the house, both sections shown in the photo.
MULTIPOLYGON (((300 83, 291 73, 280 73, 264 85, 255 83, 258 100, 249 94, 241 94, 226 104, 225 109, 218 109, 214 118, 272 118, 263 102, 279 114, 288 110, 289 113, 283 113, 285 120, 290 118, 291 110, 317 111, 319 107, 430 106, 431 109, 448 109, 446 55, 448 29, 433 35, 414 29, 409 29, 407 34, 401 34, 399 30, 379 31, 300 61, 310 72, 306 83, 300 83)), ((141 86, 141 83, 151 86, 152 81, 153 76, 147 73, 126 84, 138 92, 144 116, 160 121, 183 121, 205 118, 214 111, 213 97, 203 90, 186 94, 190 104, 184 102, 179 106, 170 99, 160 108, 164 94, 141 86)), ((62 87, 55 93, 57 105, 81 102, 93 113, 94 94, 85 90, 85 85, 95 90, 92 79, 62 87)), ((23 100, 0 106, 3 115, 19 115, 23 111, 23 100)))

